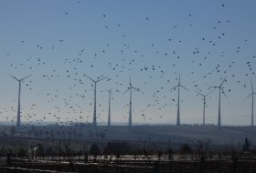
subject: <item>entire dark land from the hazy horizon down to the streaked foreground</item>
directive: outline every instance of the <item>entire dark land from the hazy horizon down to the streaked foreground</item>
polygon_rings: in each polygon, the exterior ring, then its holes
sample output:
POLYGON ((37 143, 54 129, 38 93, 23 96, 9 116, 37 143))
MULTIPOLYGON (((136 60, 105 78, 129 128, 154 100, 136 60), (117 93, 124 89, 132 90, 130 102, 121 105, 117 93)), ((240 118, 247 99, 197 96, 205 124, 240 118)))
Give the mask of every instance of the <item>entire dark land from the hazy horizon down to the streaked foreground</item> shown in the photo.
POLYGON ((255 127, 0 127, 1 172, 253 172, 255 127), (252 152, 243 153, 245 137, 252 152), (91 151, 96 144, 99 151, 91 151), (188 145, 188 149, 182 148, 188 145), (40 149, 39 149, 40 148, 40 149), (7 156, 7 157, 6 157, 7 156), (9 161, 7 161, 9 159, 9 161))

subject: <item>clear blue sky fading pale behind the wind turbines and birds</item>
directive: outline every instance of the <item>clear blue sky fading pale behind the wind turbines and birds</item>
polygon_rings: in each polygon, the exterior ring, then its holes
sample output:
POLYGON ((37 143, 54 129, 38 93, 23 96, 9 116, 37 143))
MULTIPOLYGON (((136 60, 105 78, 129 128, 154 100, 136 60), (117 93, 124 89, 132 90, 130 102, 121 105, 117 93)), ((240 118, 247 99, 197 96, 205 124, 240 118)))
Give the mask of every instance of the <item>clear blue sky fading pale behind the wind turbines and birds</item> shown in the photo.
MULTIPOLYGON (((2 0, 0 2, 0 120, 16 123, 22 83, 22 123, 97 121, 176 124, 178 76, 181 124, 202 124, 203 101, 227 76, 222 125, 251 125, 251 81, 256 88, 254 0, 2 0)), ((218 122, 219 92, 207 97, 206 123, 218 122)), ((255 121, 254 121, 255 122, 255 121)))

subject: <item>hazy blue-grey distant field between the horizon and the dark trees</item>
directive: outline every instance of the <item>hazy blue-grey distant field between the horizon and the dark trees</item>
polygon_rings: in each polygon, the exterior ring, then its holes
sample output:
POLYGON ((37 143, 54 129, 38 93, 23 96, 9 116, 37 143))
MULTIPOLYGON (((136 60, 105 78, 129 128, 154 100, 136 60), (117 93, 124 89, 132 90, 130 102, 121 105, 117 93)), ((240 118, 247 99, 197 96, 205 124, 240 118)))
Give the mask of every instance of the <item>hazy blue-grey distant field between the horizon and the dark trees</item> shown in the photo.
POLYGON ((125 141, 139 146, 155 148, 178 148, 181 144, 197 146, 207 144, 208 148, 241 149, 245 137, 251 148, 256 144, 256 127, 217 127, 200 126, 134 126, 134 127, 91 127, 91 126, 25 126, 0 127, 1 146, 35 146, 44 142, 73 142, 83 146, 93 143, 105 145, 109 141, 125 141))

